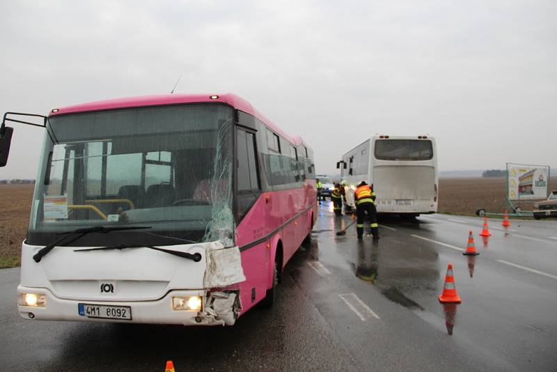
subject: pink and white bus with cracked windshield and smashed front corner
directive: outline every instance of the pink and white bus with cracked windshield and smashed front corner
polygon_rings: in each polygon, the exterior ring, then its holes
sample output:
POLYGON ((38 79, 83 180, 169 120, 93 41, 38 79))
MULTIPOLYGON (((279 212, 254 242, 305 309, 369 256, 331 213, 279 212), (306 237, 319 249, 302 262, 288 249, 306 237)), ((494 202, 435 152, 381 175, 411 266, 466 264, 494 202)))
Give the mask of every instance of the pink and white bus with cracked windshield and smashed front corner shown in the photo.
MULTIPOLYGON (((7 113, 0 165, 13 129, 7 113)), ((22 317, 233 325, 311 238, 313 153, 233 94, 77 104, 46 129, 22 317)), ((36 124, 36 123, 35 123, 36 124)))

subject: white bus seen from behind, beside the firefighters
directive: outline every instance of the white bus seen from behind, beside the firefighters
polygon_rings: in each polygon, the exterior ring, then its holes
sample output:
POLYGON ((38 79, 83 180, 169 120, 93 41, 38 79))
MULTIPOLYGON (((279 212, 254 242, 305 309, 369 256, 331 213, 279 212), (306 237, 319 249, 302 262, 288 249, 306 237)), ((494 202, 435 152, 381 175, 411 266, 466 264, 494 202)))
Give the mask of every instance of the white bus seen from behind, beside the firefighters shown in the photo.
POLYGON ((437 149, 430 136, 375 136, 337 163, 347 182, 347 206, 362 180, 373 184, 378 213, 416 217, 437 212, 437 149))

